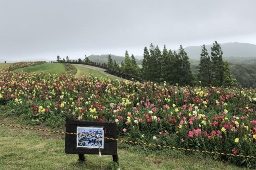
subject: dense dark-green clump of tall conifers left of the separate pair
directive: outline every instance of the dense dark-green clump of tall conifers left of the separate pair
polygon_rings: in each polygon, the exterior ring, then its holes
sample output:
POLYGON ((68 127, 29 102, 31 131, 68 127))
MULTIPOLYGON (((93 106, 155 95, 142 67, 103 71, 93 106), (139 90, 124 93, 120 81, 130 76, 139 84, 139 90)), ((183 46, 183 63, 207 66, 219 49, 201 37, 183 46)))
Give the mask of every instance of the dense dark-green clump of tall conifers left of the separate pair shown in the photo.
POLYGON ((142 74, 152 80, 166 81, 170 84, 193 83, 188 55, 181 45, 178 54, 175 51, 167 51, 165 45, 162 53, 158 45, 155 47, 150 44, 149 51, 145 47, 142 74))

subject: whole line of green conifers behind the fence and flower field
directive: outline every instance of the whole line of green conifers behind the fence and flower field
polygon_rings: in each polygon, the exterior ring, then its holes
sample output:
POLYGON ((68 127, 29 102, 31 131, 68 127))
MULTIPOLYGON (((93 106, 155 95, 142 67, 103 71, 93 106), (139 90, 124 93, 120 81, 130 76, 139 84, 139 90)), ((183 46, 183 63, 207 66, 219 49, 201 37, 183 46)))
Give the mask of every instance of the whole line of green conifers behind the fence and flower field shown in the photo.
MULTIPOLYGON (((172 52, 170 49, 166 49, 165 45, 161 51, 158 45, 155 46, 151 43, 149 49, 144 47, 141 69, 136 63, 134 55, 130 57, 127 50, 124 61, 121 61, 121 66, 116 63, 116 60, 112 60, 111 55, 108 55, 108 63, 104 63, 104 65, 111 70, 143 76, 155 81, 166 81, 169 84, 196 85, 200 82, 202 86, 210 84, 212 86, 236 86, 237 80, 232 75, 228 62, 223 61, 222 56, 223 51, 217 41, 213 43, 210 55, 203 45, 198 74, 194 75, 190 68, 188 54, 182 45, 178 52, 172 52)), ((68 60, 67 56, 66 61, 68 60)), ((59 56, 57 61, 61 61, 59 56)), ((78 61, 82 62, 81 59, 78 61)), ((90 60, 85 56, 84 61, 89 62, 90 60)))

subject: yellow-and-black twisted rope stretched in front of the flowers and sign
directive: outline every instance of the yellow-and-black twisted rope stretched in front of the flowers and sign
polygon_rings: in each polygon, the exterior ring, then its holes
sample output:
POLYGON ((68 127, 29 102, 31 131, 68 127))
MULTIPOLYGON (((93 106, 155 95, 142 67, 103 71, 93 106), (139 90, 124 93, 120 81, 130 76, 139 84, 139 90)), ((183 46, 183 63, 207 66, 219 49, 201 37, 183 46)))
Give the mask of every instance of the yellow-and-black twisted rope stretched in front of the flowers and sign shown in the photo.
MULTIPOLYGON (((62 133, 62 134, 68 134, 68 135, 80 135, 80 136, 97 137, 96 135, 88 135, 88 134, 81 134, 81 133, 69 133, 69 132, 63 132, 63 131, 52 131, 52 130, 48 130, 48 129, 37 129, 37 128, 22 127, 22 126, 9 125, 9 124, 3 124, 3 123, 0 123, 0 125, 9 126, 9 127, 17 127, 17 128, 22 128, 22 129, 30 129, 30 130, 36 130, 36 131, 47 131, 47 132, 54 132, 54 133, 62 133)), ((248 156, 248 155, 240 155, 240 154, 228 154, 228 153, 222 153, 222 152, 212 152, 212 151, 207 151, 207 150, 187 149, 187 148, 180 148, 180 147, 170 147, 170 146, 164 146, 164 145, 156 145, 156 144, 152 144, 152 143, 127 141, 127 140, 123 140, 123 139, 114 139, 114 138, 109 138, 109 137, 100 137, 99 136, 99 138, 113 140, 113 141, 120 141, 120 142, 130 143, 130 144, 136 144, 136 145, 146 145, 146 146, 161 147, 161 148, 168 148, 168 149, 174 149, 174 150, 185 150, 185 151, 190 151, 190 152, 201 152, 201 153, 208 153, 208 154, 218 154, 218 155, 223 155, 223 156, 236 156, 236 157, 240 157, 240 158, 256 159, 256 156, 248 156)))

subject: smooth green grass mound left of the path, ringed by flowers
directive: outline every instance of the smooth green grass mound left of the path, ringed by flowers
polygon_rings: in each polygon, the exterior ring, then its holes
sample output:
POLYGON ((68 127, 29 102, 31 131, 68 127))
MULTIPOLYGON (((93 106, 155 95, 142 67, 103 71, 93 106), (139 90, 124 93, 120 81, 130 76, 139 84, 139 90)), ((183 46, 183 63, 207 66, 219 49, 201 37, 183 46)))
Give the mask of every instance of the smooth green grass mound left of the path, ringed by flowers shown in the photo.
POLYGON ((14 71, 21 71, 21 70, 23 70, 24 72, 37 72, 37 73, 50 72, 51 74, 60 75, 66 71, 66 68, 63 64, 60 64, 60 63, 44 63, 44 64, 35 65, 35 66, 19 68, 14 71))

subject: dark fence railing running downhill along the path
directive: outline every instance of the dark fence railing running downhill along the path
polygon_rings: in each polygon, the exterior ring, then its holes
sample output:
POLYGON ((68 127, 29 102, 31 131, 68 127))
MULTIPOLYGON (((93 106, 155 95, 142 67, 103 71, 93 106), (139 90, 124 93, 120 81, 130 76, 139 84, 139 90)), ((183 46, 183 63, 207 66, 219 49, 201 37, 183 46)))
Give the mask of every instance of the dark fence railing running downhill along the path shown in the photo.
POLYGON ((68 61, 49 61, 49 63, 70 63, 70 64, 85 64, 85 65, 91 65, 91 66, 96 66, 96 67, 100 67, 100 68, 104 68, 106 70, 112 71, 116 74, 120 74, 120 76, 126 76, 130 79, 134 79, 134 80, 138 80, 141 82, 147 82, 147 81, 152 81, 152 82, 157 82, 157 83, 162 83, 159 80, 155 80, 153 78, 148 78, 145 76, 141 76, 141 75, 134 75, 134 74, 130 74, 127 72, 121 72, 117 69, 113 69, 108 67, 108 65, 106 63, 98 63, 98 62, 93 62, 93 61, 79 61, 79 60, 68 60, 68 61))

